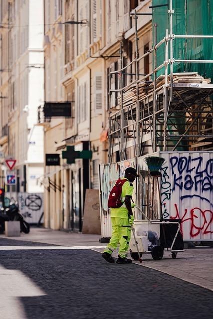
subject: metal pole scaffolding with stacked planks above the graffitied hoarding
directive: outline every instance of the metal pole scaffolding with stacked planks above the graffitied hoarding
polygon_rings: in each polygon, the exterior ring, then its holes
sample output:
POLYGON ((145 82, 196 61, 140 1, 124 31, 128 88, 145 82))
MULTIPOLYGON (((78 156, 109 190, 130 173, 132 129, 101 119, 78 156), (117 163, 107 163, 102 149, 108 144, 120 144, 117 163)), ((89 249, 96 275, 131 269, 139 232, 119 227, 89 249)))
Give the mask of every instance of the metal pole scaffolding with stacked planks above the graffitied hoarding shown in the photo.
MULTIPOLYGON (((109 162, 116 152, 119 160, 127 160, 127 149, 133 148, 134 157, 157 151, 201 151, 213 150, 213 84, 202 81, 197 72, 175 73, 175 63, 213 63, 213 60, 176 59, 173 44, 175 39, 208 39, 213 35, 181 35, 173 33, 173 1, 168 6, 169 31, 157 43, 157 25, 154 24, 154 43, 150 50, 139 57, 137 19, 140 15, 130 14, 135 20, 135 58, 123 65, 123 44, 120 42, 120 69, 109 72, 109 162), (158 65, 157 50, 165 46, 164 62, 158 65), (139 73, 139 62, 151 55, 153 70, 146 75, 139 73), (124 76, 134 66, 135 79, 124 85, 124 76), (164 74, 157 77, 157 72, 164 74), (120 88, 114 89, 112 77, 120 77, 120 88), (192 81, 176 81, 187 76, 192 81), (152 78, 152 81, 149 79, 152 78), (195 80, 194 80, 195 78, 195 80), (199 81, 197 81, 197 78, 199 81), (130 94, 131 93, 131 94, 130 94), (119 110, 111 107, 112 94, 119 94, 119 110), (128 100, 129 97, 129 100, 128 100), (128 101, 128 103, 124 103, 128 101)), ((156 6, 155 6, 156 7, 156 6)), ((132 74, 133 75, 133 74, 132 74)))

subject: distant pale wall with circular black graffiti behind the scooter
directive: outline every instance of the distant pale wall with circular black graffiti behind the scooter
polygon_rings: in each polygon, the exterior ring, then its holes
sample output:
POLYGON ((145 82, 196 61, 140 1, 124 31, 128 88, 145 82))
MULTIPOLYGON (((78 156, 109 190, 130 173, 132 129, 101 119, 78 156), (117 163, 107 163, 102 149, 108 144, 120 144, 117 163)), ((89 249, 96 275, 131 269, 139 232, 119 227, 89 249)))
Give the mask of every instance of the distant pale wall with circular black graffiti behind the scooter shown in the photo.
MULTIPOLYGON (((37 224, 43 213, 43 193, 5 193, 9 200, 18 202, 20 214, 29 224, 37 224)), ((43 223, 43 217, 40 220, 43 223)))

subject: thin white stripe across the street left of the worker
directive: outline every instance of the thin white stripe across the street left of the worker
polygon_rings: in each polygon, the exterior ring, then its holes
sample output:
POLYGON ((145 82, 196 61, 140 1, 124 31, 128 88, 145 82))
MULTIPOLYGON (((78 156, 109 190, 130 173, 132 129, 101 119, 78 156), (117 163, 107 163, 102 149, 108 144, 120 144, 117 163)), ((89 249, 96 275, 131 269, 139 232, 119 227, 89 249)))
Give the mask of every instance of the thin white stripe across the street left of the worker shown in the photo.
POLYGON ((96 249, 103 246, 0 246, 0 250, 96 249))

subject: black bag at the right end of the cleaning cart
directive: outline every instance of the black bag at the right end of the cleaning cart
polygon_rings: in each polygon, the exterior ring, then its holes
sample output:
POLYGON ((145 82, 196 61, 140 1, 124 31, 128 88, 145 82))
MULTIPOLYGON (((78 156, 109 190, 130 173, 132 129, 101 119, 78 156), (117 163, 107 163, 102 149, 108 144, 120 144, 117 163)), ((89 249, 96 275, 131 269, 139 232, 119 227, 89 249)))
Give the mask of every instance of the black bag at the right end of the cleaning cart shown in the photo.
MULTIPOLYGON (((170 222, 176 221, 181 224, 181 219, 164 219, 163 221, 170 221, 170 222)), ((178 224, 160 224, 160 239, 159 239, 160 246, 163 248, 171 247, 172 242, 177 233, 177 230, 178 230, 178 224), (165 236, 164 236, 164 232, 165 232, 165 236), (165 243, 164 237, 166 238, 166 243, 165 243)), ((181 232, 179 231, 172 250, 183 250, 183 249, 184 249, 183 236, 181 232)))

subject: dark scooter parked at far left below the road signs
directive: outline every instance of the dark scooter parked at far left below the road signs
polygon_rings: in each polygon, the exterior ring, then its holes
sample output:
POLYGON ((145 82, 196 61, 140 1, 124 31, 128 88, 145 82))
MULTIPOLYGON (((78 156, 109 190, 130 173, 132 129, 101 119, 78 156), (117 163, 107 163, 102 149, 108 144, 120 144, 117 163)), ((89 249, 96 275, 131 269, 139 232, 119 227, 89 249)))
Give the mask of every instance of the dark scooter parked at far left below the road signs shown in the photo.
POLYGON ((4 231, 5 221, 19 221, 20 222, 20 232, 25 234, 29 233, 30 226, 23 219, 23 216, 19 213, 18 204, 16 202, 10 202, 8 207, 0 208, 0 232, 4 231))

